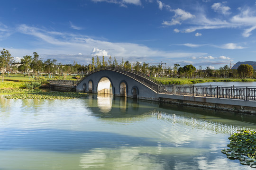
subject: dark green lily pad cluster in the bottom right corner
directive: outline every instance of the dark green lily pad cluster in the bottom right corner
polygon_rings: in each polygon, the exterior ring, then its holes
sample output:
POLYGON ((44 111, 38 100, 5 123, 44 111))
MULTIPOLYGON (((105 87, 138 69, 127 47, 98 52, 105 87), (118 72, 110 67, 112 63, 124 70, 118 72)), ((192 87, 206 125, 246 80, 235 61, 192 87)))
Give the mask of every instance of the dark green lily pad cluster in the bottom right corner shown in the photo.
POLYGON ((238 159, 243 165, 256 168, 256 132, 250 130, 238 130, 238 133, 229 137, 230 149, 221 150, 229 159, 238 159))

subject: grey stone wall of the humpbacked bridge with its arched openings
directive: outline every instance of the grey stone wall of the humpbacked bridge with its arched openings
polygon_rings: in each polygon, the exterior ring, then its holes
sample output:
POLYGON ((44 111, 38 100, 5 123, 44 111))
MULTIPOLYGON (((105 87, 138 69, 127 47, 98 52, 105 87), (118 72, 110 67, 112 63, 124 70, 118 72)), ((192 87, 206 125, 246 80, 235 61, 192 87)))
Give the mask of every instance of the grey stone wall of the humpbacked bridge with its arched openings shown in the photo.
POLYGON ((153 86, 146 84, 143 77, 138 81, 136 75, 124 74, 115 70, 103 69, 86 76, 76 86, 77 92, 110 93, 130 98, 153 98, 156 92, 153 86), (85 89, 84 89, 85 88, 85 89))

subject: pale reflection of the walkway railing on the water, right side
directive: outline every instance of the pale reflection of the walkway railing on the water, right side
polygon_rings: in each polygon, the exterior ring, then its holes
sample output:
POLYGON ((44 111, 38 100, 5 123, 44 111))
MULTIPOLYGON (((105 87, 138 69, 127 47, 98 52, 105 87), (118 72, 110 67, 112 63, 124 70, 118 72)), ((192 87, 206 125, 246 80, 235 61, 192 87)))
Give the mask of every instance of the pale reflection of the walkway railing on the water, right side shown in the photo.
POLYGON ((206 119, 199 119, 193 117, 185 117, 177 114, 167 114, 161 111, 152 111, 152 114, 157 116, 157 119, 171 120, 174 123, 182 123, 184 125, 192 126, 193 128, 203 128, 207 130, 214 131, 216 133, 228 133, 234 134, 238 129, 248 129, 255 130, 247 127, 242 127, 238 125, 229 125, 219 122, 214 122, 206 119))

